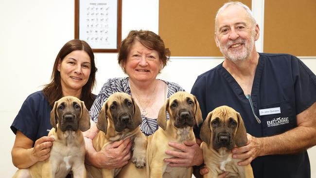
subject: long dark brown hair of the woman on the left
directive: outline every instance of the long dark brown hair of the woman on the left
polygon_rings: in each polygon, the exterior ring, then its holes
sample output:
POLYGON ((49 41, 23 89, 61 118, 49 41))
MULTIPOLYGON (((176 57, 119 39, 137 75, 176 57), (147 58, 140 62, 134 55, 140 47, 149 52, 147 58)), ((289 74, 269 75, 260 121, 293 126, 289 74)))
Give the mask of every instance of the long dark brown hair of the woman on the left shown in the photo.
POLYGON ((62 98, 63 95, 60 82, 60 72, 57 71, 58 62, 63 61, 66 55, 76 50, 84 50, 88 53, 91 60, 91 72, 89 75, 89 79, 87 84, 83 86, 81 91, 81 98, 79 99, 85 102, 87 109, 90 109, 93 104, 94 96, 92 94, 92 89, 95 86, 95 72, 98 71, 94 63, 94 54, 87 42, 80 39, 73 39, 68 41, 57 54, 51 76, 52 81, 51 83, 45 85, 43 89, 44 96, 52 107, 55 101, 62 98))

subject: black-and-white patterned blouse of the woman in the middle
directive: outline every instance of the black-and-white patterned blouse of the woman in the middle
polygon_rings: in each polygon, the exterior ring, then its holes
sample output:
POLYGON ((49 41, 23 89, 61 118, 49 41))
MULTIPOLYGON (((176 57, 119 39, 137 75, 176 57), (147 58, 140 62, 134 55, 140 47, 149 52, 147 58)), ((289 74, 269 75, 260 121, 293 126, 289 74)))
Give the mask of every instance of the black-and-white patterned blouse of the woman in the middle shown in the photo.
MULTIPOLYGON (((108 79, 103 85, 101 91, 99 92, 97 98, 94 100, 94 103, 90 109, 90 117, 96 123, 98 121, 98 115, 101 110, 101 107, 107 100, 107 98, 115 92, 125 92, 129 95, 132 95, 131 89, 128 85, 129 77, 123 78, 111 78, 108 79)), ((163 80, 162 80, 163 81, 163 80)), ((163 81, 168 86, 167 98, 177 91, 184 91, 178 84, 173 82, 163 81)), ((167 120, 169 120, 169 115, 167 113, 167 120)), ((150 119, 141 114, 141 125, 140 130, 146 135, 149 136, 153 134, 157 129, 157 118, 150 119)))

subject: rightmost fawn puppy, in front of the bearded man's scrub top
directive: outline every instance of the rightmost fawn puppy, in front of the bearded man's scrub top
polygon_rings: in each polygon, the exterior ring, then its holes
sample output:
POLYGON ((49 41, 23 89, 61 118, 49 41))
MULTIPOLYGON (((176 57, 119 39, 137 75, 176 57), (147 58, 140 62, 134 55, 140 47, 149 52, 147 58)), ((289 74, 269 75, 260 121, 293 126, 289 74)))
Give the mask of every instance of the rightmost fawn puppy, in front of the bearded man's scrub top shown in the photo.
POLYGON ((221 106, 211 111, 201 127, 200 137, 204 164, 209 169, 204 178, 217 178, 223 172, 229 172, 230 177, 253 178, 250 164, 239 166, 241 160, 232 159, 234 146, 244 146, 247 142, 244 121, 233 108, 221 106))

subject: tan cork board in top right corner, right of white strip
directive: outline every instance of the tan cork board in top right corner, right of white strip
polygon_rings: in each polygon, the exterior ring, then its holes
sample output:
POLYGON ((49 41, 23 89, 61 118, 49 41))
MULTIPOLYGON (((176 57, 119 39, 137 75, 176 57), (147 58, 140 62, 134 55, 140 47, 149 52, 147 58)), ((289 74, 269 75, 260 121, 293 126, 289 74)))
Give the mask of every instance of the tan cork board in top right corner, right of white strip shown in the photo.
POLYGON ((265 53, 316 56, 316 0, 265 0, 265 53))

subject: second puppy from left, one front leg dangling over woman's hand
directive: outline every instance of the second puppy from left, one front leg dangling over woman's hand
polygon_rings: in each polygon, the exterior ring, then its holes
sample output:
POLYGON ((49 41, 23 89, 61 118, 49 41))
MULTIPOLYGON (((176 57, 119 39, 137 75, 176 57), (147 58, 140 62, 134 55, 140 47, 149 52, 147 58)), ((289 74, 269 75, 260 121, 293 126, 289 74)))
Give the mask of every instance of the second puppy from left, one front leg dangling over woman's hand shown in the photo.
MULTIPOLYGON (((138 168, 146 164, 147 138, 140 131, 140 108, 134 99, 123 92, 116 92, 106 100, 99 116, 97 127, 102 132, 93 139, 93 147, 100 151, 107 144, 131 138, 133 141, 132 162, 138 168)), ((88 178, 114 178, 121 168, 99 169, 86 164, 88 178)), ((129 175, 131 176, 131 175, 129 175)))

